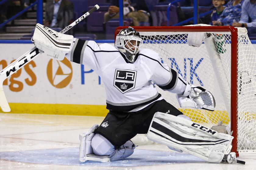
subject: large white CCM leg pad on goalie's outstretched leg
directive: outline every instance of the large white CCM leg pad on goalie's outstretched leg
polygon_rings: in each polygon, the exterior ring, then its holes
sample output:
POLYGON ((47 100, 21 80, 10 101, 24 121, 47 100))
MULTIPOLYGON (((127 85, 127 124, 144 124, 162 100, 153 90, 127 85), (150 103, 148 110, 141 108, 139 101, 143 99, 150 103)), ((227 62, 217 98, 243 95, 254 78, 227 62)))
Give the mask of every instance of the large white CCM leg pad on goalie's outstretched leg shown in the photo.
POLYGON ((147 137, 205 161, 219 163, 231 150, 233 137, 171 114, 155 113, 147 137))

